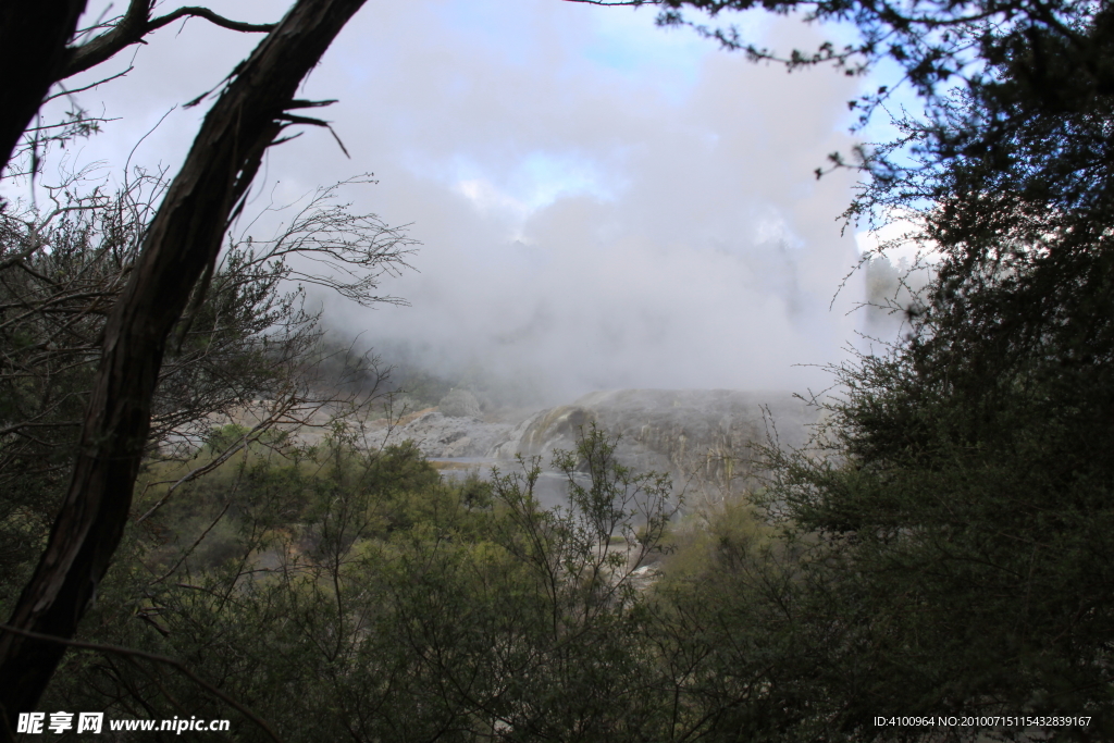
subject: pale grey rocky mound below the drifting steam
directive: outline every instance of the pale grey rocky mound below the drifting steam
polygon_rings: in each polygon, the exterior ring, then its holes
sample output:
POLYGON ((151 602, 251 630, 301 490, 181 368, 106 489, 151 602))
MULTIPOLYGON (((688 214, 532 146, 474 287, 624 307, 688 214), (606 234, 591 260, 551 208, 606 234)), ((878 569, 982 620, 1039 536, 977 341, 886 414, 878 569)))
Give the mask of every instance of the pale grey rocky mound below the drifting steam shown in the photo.
POLYGON ((458 392, 451 404, 404 419, 391 437, 413 440, 447 469, 506 470, 518 454, 548 465, 555 449, 574 449, 579 431, 594 424, 620 437, 623 463, 667 472, 678 487, 722 491, 750 481, 754 444, 775 439, 804 447, 817 420, 814 409, 786 392, 612 390, 520 416, 517 423, 485 419, 469 397, 458 392))

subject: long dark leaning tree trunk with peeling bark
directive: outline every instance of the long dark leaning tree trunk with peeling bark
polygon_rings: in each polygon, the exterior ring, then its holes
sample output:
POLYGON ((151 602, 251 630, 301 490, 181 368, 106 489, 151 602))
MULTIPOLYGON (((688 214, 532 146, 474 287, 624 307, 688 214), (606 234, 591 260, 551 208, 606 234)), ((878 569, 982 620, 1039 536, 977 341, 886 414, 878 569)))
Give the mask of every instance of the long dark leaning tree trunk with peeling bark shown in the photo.
MULTIPOLYGON (((70 638, 108 568, 131 506, 167 336, 264 151, 290 124, 302 78, 363 0, 299 0, 235 71, 205 117, 105 327, 69 490, 11 625, 70 638)), ((304 120, 304 119, 303 119, 304 120)), ((32 710, 65 653, 0 633, 0 714, 32 710)))

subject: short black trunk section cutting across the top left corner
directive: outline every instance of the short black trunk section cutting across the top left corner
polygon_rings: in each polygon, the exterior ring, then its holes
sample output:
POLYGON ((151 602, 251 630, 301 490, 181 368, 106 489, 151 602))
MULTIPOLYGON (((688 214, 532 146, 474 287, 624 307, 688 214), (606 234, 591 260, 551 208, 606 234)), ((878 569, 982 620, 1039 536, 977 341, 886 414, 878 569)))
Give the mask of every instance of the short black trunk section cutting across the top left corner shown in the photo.
POLYGON ((66 69, 85 0, 0 2, 0 173, 19 138, 66 69))

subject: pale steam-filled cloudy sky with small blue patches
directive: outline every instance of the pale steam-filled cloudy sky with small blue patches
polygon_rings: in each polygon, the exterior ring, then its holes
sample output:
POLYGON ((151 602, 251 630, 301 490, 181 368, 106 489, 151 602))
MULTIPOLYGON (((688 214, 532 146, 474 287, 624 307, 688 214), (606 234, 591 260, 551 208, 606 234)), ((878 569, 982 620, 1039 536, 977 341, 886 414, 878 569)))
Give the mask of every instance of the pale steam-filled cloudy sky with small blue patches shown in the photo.
MULTIPOLYGON (((285 3, 212 7, 262 22, 285 3)), ((839 221, 853 178, 813 170, 853 145, 847 101, 863 82, 754 65, 653 21, 559 0, 369 0, 300 94, 339 100, 319 113, 351 157, 307 130, 271 151, 250 207, 373 173, 344 201, 421 243, 414 270, 380 287, 409 306, 314 293, 326 324, 551 400, 830 384, 822 366, 858 342, 863 289, 859 275, 840 289, 859 256, 839 221)), ((823 31, 741 22, 780 48, 823 31)), ((131 72, 76 95, 118 120, 66 166, 173 173, 205 110, 183 104, 257 40, 195 19, 118 56, 98 72, 131 72)))

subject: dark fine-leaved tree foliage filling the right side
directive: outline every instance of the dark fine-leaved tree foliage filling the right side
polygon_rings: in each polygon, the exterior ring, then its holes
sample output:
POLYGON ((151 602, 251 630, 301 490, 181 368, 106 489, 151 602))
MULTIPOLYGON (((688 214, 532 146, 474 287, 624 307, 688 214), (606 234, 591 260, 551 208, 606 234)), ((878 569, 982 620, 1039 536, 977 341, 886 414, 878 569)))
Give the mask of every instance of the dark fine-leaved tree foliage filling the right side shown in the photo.
POLYGON ((971 27, 994 42, 979 76, 868 155, 850 214, 908 219, 935 273, 911 334, 834 370, 821 456, 769 452, 763 502, 807 556, 783 602, 813 653, 789 737, 1032 734, 874 715, 1114 730, 1111 12, 1015 10, 971 27))

